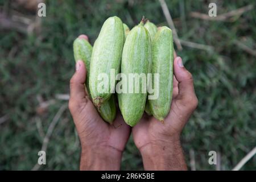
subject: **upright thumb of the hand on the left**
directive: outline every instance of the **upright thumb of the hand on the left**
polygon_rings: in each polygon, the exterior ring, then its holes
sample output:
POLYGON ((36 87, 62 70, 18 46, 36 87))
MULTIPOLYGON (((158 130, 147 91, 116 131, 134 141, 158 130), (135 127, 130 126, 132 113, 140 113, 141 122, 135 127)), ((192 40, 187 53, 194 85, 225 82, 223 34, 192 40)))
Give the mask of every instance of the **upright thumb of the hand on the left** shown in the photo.
POLYGON ((86 79, 86 69, 84 62, 78 60, 76 62, 76 72, 70 80, 70 97, 71 100, 79 101, 85 98, 85 79, 86 79))

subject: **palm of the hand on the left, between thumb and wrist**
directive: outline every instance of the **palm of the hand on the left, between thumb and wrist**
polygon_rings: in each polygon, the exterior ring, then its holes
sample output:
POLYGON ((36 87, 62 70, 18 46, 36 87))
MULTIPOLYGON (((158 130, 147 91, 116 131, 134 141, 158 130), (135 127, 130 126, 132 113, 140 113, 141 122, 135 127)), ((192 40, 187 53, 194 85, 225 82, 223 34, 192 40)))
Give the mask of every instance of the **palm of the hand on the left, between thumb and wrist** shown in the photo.
POLYGON ((109 146, 123 151, 130 135, 130 127, 125 125, 118 113, 113 125, 103 121, 91 101, 84 102, 77 116, 79 136, 86 138, 84 146, 109 146))

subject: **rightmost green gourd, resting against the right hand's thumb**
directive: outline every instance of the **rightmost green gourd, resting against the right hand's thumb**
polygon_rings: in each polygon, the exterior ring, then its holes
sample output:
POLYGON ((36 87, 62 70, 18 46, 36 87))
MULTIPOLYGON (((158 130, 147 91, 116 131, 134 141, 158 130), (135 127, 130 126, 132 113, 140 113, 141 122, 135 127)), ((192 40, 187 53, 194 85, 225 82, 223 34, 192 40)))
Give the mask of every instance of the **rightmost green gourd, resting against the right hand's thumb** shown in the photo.
POLYGON ((161 27, 152 42, 152 85, 159 83, 159 97, 148 100, 152 115, 163 121, 170 111, 174 77, 174 44, 172 30, 161 27), (154 82, 154 73, 159 73, 159 82, 154 82))

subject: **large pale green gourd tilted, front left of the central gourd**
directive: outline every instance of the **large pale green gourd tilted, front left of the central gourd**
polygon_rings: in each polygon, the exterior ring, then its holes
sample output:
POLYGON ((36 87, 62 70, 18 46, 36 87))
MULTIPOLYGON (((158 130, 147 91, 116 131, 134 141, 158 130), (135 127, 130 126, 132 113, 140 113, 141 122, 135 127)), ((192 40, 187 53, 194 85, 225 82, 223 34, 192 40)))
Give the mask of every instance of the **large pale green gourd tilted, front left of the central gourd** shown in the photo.
POLYGON ((90 62, 89 88, 93 104, 98 108, 114 93, 124 42, 122 20, 117 16, 106 19, 94 43, 90 62))

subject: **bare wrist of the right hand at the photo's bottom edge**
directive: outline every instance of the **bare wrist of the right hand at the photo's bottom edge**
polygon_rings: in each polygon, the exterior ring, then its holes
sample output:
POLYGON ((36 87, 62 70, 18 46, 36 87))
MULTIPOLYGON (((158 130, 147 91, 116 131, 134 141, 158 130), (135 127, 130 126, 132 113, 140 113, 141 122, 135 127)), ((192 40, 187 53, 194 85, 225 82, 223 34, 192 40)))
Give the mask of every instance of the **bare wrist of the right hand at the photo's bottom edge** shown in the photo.
POLYGON ((155 141, 146 144, 139 150, 145 170, 186 170, 180 140, 155 141))

